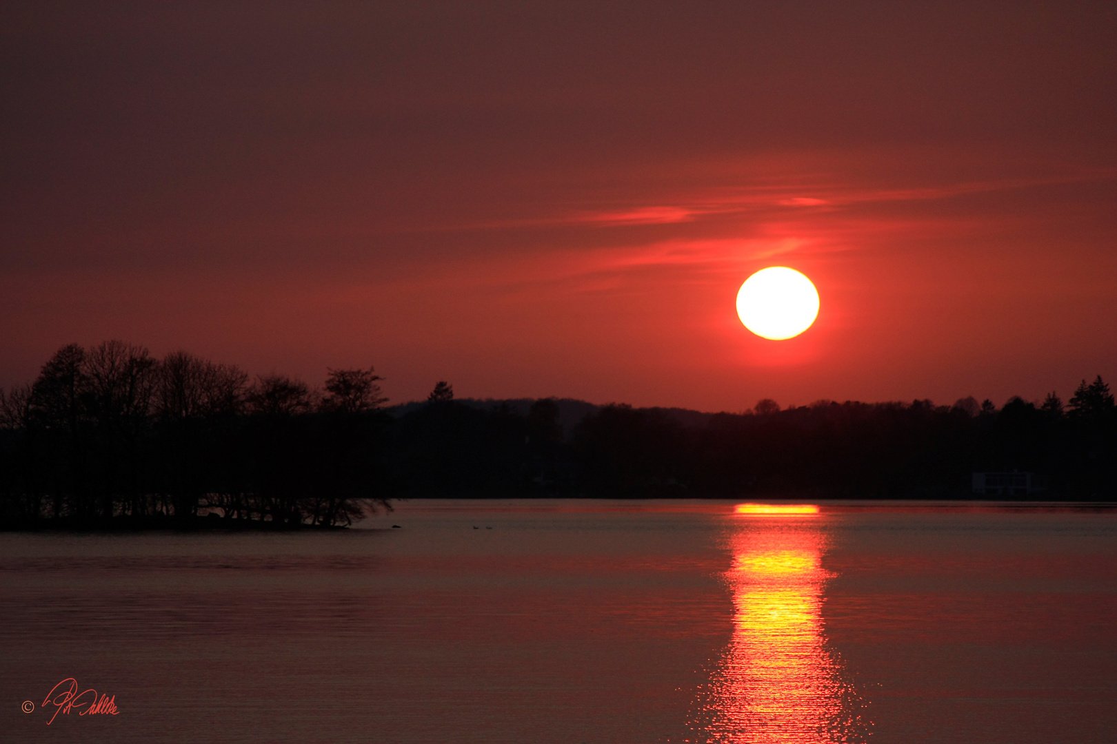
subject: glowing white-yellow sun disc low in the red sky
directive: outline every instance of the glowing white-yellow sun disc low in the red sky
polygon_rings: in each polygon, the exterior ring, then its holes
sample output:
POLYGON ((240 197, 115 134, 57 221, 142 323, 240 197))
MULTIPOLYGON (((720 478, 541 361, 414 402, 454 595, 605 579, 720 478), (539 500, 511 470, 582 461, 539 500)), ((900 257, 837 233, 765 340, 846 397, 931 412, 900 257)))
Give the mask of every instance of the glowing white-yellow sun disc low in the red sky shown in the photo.
POLYGON ((819 317, 819 291, 794 269, 761 269, 741 286, 737 316, 745 328, 762 338, 793 338, 819 317))

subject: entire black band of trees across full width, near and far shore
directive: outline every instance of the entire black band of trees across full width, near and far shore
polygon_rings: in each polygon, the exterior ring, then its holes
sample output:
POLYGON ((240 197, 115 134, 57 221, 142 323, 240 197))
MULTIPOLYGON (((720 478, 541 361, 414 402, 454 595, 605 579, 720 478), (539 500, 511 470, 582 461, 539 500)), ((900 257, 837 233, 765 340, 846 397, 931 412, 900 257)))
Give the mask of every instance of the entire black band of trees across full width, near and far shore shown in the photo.
POLYGON ((0 523, 345 525, 408 496, 967 497, 973 472, 1016 470, 1046 497, 1117 497, 1100 376, 1066 408, 1052 393, 1000 409, 761 400, 699 414, 460 402, 445 381, 391 409, 371 367, 327 371, 318 390, 185 352, 66 346, 32 384, 0 390, 0 523))

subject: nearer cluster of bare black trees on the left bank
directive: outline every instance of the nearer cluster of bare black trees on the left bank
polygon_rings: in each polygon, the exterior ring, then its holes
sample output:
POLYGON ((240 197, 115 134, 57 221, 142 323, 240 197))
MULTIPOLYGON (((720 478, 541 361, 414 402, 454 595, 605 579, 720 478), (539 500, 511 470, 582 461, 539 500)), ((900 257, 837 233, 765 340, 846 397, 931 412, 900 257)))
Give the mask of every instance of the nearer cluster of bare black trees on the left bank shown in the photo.
POLYGON ((350 524, 388 505, 379 379, 330 370, 318 392, 182 351, 66 346, 0 390, 0 520, 350 524))

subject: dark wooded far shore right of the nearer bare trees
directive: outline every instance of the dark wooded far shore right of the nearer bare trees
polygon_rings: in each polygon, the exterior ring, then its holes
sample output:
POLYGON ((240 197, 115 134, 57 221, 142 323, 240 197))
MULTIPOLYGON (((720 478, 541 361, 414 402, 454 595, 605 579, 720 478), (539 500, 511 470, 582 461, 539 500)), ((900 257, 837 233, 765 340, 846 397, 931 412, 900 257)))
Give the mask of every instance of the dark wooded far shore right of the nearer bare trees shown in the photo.
MULTIPOLYGON (((974 472, 1031 472, 1043 497, 1117 497, 1117 413, 1098 377, 997 408, 818 402, 745 414, 596 407, 570 431, 553 399, 455 402, 439 383, 392 424, 392 481, 418 496, 973 497, 974 472)), ((567 402, 577 403, 577 402, 567 402)))

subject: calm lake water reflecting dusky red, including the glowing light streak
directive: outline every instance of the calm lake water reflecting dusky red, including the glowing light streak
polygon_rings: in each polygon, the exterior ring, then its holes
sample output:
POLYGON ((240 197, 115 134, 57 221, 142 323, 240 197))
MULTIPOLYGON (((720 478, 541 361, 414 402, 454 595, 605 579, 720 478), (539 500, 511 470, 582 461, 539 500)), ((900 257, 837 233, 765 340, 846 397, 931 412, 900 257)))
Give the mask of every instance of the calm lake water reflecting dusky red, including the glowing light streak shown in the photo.
POLYGON ((0 741, 1117 741, 1109 509, 412 501, 362 526, 0 534, 0 741), (67 678, 117 714, 44 706, 67 678))

